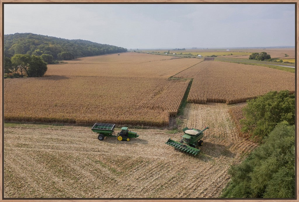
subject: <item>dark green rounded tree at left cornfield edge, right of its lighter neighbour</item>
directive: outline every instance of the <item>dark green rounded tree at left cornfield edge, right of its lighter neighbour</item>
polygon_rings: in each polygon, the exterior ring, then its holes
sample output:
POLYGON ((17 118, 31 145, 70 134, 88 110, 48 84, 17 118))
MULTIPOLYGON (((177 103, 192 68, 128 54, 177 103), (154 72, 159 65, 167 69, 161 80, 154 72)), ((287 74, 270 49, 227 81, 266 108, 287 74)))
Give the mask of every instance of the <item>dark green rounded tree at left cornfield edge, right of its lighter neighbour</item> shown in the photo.
POLYGON ((47 63, 42 60, 40 56, 31 56, 29 63, 28 76, 29 77, 41 77, 47 71, 47 63))

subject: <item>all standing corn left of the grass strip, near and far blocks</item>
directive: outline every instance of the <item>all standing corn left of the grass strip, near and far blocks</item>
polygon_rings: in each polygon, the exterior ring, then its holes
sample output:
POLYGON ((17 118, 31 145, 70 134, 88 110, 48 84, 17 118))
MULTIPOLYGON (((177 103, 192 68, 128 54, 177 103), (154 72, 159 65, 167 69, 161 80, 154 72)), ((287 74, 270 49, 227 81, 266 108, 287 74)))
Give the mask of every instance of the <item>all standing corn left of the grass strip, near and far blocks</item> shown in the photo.
POLYGON ((45 77, 5 79, 4 119, 166 126, 190 82, 168 77, 202 62, 169 58, 141 53, 93 56, 48 65, 45 77), (74 63, 78 61, 84 63, 74 63))

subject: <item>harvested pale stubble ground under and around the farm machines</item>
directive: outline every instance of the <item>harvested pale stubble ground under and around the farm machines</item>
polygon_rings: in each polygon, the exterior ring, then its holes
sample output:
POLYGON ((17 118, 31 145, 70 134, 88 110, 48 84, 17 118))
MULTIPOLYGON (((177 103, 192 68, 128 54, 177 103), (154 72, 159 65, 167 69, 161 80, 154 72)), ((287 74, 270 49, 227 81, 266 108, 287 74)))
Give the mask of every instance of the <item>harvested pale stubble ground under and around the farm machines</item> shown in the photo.
MULTIPOLYGON (((254 144, 237 137, 225 104, 187 104, 184 126, 209 126, 194 157, 164 144, 182 133, 134 129, 130 142, 97 140, 91 127, 7 124, 4 197, 213 198, 254 144)), ((118 131, 116 129, 115 131, 118 131)))

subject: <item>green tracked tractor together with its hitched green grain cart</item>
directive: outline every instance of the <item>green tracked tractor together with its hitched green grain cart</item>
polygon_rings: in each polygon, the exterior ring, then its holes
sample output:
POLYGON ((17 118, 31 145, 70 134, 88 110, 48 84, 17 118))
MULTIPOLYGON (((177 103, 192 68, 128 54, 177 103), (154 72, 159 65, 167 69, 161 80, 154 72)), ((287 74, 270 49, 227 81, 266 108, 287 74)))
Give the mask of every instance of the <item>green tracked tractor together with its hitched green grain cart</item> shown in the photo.
POLYGON ((130 141, 131 138, 138 137, 139 135, 135 132, 129 131, 128 127, 122 127, 121 131, 114 134, 115 124, 113 123, 95 123, 91 130, 98 133, 97 139, 104 140, 104 137, 117 137, 119 141, 130 141))

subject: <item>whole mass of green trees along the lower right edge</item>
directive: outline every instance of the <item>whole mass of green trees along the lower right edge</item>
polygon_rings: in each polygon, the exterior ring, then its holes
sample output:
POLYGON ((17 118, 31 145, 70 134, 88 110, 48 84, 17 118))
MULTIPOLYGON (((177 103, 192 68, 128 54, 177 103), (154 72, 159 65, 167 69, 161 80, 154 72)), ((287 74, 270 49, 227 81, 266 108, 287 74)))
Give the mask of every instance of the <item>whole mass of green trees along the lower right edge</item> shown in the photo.
POLYGON ((260 143, 239 165, 223 198, 295 198, 295 94, 271 91, 247 101, 242 131, 260 143))

